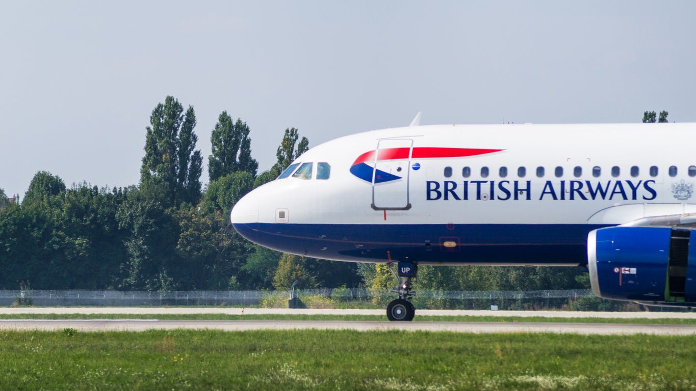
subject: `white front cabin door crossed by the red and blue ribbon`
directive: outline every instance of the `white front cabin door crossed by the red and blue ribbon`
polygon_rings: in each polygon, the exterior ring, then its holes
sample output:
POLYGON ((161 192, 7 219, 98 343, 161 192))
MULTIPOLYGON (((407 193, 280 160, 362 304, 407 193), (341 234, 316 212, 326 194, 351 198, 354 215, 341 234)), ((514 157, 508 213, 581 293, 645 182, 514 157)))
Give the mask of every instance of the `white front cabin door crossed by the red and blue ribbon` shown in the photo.
POLYGON ((413 140, 377 142, 372 173, 372 209, 409 210, 409 175, 413 140))

